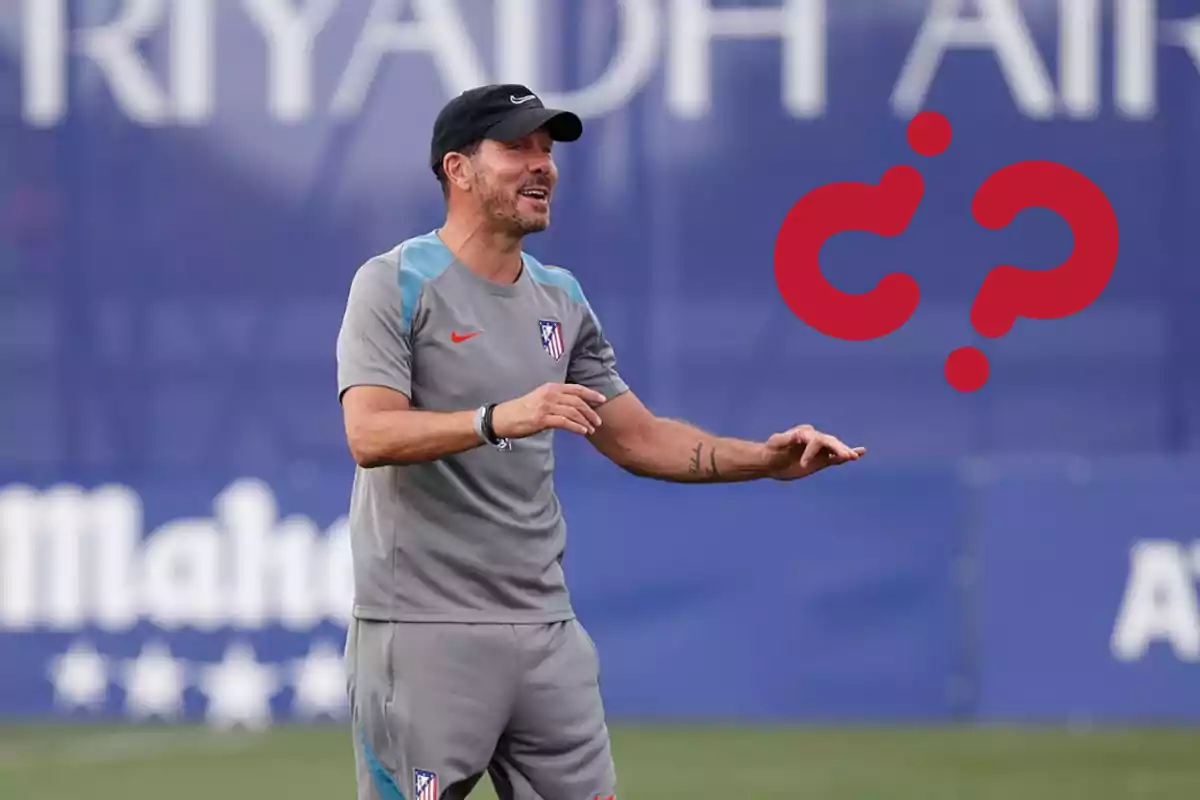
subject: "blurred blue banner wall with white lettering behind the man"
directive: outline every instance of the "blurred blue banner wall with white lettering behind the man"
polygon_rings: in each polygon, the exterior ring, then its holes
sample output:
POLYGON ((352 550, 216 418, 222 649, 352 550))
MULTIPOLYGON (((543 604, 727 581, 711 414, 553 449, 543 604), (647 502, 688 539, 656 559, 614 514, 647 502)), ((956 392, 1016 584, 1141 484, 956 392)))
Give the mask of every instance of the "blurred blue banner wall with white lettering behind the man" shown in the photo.
POLYGON ((635 391, 714 432, 811 422, 871 451, 685 487, 559 438, 616 718, 1200 722, 1198 13, 0 5, 0 716, 342 712, 347 289, 440 223, 440 106, 522 80, 586 116, 527 247, 582 281, 635 391), (954 127, 934 158, 905 139, 925 108, 954 127), (1086 311, 983 339, 988 271, 1073 246, 1048 211, 972 219, 1026 158, 1108 193, 1121 255, 1086 311), (826 338, 779 295, 775 234, 811 188, 898 163, 926 181, 908 230, 822 263, 846 291, 905 271, 920 308, 826 338), (964 344, 991 360, 974 393, 942 372, 964 344))

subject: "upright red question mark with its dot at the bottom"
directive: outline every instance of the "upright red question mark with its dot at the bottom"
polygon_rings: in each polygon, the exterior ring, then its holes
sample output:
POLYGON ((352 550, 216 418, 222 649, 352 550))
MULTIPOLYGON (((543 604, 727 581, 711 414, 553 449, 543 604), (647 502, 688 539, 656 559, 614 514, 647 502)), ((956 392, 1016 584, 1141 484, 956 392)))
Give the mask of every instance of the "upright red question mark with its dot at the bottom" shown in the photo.
MULTIPOLYGON (((994 173, 979 186, 971 212, 984 228, 1008 227, 1026 209, 1049 209, 1067 221, 1075 246, 1052 270, 997 266, 984 278, 971 306, 971 325, 997 338, 1018 317, 1062 319, 1096 302, 1112 277, 1120 249, 1116 212, 1087 176, 1052 161, 1022 161, 994 173)), ((961 392, 988 383, 988 356, 972 347, 946 360, 946 379, 961 392)))

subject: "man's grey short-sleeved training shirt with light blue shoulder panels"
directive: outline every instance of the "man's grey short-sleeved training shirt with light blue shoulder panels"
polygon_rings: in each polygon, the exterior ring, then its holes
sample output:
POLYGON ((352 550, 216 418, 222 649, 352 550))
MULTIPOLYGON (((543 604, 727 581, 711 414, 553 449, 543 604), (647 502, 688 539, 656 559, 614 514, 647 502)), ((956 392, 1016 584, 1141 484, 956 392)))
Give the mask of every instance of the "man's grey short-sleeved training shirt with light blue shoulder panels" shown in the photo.
MULTIPOLYGON (((626 391, 578 281, 523 255, 476 276, 430 231, 358 269, 337 337, 338 398, 388 386, 414 409, 462 411, 576 383, 626 391)), ((436 462, 359 468, 350 498, 354 615, 392 621, 571 619, 553 431, 436 462)))

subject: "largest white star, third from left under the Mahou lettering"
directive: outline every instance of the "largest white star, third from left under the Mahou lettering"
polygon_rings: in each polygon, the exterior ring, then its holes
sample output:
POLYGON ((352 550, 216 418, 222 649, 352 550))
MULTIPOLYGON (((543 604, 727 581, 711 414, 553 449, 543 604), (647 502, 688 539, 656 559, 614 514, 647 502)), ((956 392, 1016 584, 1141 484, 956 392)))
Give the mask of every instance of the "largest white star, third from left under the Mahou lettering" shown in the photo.
POLYGON ((258 663, 253 648, 233 644, 221 663, 205 667, 200 687, 209 698, 208 721, 215 728, 262 730, 271 724, 271 697, 280 688, 276 669, 258 663))

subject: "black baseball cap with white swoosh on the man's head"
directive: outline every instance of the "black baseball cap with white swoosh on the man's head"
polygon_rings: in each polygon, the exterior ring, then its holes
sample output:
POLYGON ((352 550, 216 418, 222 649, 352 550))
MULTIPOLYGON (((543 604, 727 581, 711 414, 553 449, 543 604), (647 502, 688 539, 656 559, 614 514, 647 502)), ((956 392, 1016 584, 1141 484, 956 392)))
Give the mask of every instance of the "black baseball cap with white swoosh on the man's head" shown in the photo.
POLYGON ((511 142, 545 126, 557 142, 575 142, 583 121, 571 112, 546 108, 521 84, 488 84, 462 92, 442 109, 433 124, 430 166, 442 172, 442 160, 481 139, 511 142))

